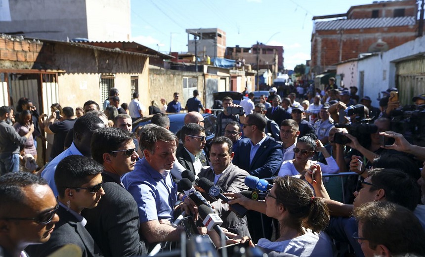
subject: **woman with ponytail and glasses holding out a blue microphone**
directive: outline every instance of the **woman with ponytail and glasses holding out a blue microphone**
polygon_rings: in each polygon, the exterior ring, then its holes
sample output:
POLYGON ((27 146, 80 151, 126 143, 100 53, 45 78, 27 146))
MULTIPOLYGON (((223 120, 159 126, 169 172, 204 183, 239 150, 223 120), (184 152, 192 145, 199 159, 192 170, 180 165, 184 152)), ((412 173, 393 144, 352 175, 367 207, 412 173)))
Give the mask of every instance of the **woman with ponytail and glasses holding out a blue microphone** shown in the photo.
POLYGON ((279 221, 278 238, 274 242, 258 240, 257 246, 266 253, 333 256, 332 241, 322 232, 330 220, 328 207, 322 198, 314 197, 307 182, 292 176, 276 177, 272 189, 266 191, 265 201, 251 200, 239 193, 225 195, 234 198, 229 204, 239 203, 279 221))

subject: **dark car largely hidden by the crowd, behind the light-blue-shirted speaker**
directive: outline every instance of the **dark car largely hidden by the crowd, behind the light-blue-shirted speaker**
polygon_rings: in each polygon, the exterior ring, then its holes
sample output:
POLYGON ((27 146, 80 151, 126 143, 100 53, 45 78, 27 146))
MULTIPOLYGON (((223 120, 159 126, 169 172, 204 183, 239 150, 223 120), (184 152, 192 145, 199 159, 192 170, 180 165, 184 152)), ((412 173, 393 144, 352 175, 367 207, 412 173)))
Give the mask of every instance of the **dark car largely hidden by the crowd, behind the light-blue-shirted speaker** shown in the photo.
MULTIPOLYGON (((180 138, 180 129, 184 125, 184 116, 186 116, 186 113, 168 113, 167 115, 168 118, 170 118, 170 131, 173 132, 178 138, 180 138)), ((153 115, 149 115, 133 122, 133 132, 138 127, 151 123, 152 116, 153 115)), ((204 113, 202 116, 205 120, 204 128, 208 145, 208 142, 211 141, 215 136, 215 124, 217 123, 217 117, 210 113, 204 113)))

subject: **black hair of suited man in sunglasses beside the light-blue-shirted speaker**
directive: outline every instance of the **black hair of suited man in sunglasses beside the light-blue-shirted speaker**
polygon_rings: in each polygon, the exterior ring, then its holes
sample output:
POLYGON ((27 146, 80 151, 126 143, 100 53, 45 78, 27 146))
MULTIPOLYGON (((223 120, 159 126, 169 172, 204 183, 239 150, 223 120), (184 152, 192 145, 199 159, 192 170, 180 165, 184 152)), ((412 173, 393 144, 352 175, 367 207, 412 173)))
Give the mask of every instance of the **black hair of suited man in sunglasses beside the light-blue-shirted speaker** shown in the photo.
POLYGON ((103 164, 104 153, 116 151, 132 139, 133 134, 126 129, 96 129, 91 137, 91 158, 93 158, 96 162, 103 164))

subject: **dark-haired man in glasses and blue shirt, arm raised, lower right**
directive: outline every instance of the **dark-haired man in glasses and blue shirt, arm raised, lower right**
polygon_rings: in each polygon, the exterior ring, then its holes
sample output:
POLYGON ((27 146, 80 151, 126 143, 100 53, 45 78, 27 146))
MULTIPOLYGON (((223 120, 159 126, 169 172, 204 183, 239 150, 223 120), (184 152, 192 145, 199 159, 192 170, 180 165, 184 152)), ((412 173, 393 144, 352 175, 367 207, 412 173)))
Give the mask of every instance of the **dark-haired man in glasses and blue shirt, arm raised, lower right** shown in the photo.
MULTIPOLYGON (((306 173, 307 181, 311 180, 310 174, 306 173)), ((417 182, 404 171, 395 169, 368 171, 368 177, 358 181, 353 205, 331 200, 322 183, 321 171, 316 171, 314 174, 316 183, 312 186, 316 196, 324 198, 333 216, 326 232, 337 242, 349 243, 357 257, 362 257, 363 253, 358 241, 352 238, 352 235, 357 232, 357 222, 352 217, 353 211, 362 204, 372 201, 391 202, 404 206, 410 211, 414 211, 418 205, 420 191, 417 182)))

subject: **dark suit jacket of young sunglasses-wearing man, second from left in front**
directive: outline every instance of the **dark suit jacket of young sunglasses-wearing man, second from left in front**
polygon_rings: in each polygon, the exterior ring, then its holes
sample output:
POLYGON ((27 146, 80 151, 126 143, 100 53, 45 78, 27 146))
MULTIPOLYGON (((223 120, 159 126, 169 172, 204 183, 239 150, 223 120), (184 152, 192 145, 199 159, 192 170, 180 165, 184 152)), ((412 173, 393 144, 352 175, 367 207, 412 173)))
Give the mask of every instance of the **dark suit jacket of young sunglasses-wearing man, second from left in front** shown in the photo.
POLYGON ((29 256, 48 256, 67 244, 74 244, 80 247, 83 257, 103 256, 93 238, 73 214, 62 206, 59 206, 57 214, 59 215, 59 221, 55 223, 49 241, 41 245, 28 246, 25 251, 29 256))

